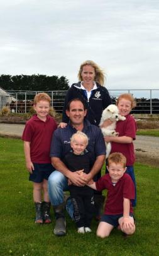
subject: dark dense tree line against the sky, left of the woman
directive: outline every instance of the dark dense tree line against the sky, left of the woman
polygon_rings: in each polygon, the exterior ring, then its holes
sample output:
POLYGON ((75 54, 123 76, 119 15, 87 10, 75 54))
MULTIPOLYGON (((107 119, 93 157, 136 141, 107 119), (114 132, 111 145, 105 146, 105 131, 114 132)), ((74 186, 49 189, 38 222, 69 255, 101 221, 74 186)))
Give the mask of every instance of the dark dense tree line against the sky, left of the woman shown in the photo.
POLYGON ((1 75, 0 87, 4 90, 68 90, 69 80, 65 76, 47 75, 1 75))

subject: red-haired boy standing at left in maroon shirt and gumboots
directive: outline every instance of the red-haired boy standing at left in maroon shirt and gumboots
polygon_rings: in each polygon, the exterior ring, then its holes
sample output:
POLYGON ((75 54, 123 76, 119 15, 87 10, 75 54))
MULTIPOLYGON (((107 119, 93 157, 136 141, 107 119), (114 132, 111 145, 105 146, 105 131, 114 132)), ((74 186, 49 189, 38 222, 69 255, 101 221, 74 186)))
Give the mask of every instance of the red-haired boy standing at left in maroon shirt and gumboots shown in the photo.
POLYGON ((49 115, 50 96, 40 93, 35 96, 34 109, 36 114, 26 123, 23 131, 26 168, 33 181, 33 200, 36 209, 36 223, 50 223, 50 200, 48 198, 48 177, 53 166, 50 159, 50 144, 57 123, 49 115), (43 192, 44 202, 41 202, 43 192))

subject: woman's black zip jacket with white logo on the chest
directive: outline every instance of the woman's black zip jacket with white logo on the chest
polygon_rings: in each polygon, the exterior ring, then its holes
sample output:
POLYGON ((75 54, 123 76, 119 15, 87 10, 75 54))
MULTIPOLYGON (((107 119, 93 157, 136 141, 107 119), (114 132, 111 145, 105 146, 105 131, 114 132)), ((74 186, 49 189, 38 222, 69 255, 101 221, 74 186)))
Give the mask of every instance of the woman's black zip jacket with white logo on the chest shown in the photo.
POLYGON ((87 107, 87 119, 89 119, 92 125, 97 125, 97 126, 99 125, 101 116, 102 116, 102 111, 107 106, 112 104, 112 101, 111 101, 111 97, 109 95, 108 90, 105 87, 102 87, 101 85, 99 85, 99 83, 97 82, 96 82, 96 85, 97 85, 97 89, 92 90, 92 94, 88 101, 86 95, 84 94, 84 90, 80 88, 80 82, 73 83, 73 85, 69 88, 67 95, 65 97, 65 103, 64 103, 63 114, 62 114, 62 121, 64 123, 69 122, 69 118, 65 113, 68 102, 71 101, 72 99, 79 98, 85 102, 85 106, 87 107))

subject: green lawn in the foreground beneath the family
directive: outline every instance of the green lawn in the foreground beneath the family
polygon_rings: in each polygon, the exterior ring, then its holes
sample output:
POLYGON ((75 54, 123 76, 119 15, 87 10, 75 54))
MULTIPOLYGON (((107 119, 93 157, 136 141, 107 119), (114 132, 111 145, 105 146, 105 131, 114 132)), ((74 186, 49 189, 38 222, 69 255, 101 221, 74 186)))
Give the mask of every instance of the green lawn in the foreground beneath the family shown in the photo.
MULTIPOLYGON (((38 226, 34 223, 32 184, 25 169, 23 142, 0 138, 0 150, 0 255, 158 255, 158 168, 135 165, 138 205, 133 236, 124 239, 122 233, 114 229, 109 238, 102 240, 96 237, 95 221, 92 233, 78 234, 74 222, 67 216, 67 235, 56 237, 52 224, 38 226)), ((53 212, 52 219, 54 224, 53 212)))

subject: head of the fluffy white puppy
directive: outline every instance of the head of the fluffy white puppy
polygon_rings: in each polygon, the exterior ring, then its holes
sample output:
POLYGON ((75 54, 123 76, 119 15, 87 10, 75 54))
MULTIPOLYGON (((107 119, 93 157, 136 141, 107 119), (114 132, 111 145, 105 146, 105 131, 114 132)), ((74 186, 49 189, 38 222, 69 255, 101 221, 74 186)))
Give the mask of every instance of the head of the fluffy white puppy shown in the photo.
POLYGON ((118 121, 119 110, 118 107, 114 104, 111 104, 104 109, 102 112, 103 121, 106 119, 111 119, 111 121, 118 121))

